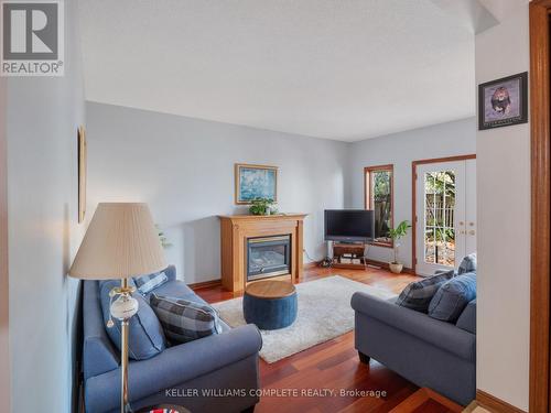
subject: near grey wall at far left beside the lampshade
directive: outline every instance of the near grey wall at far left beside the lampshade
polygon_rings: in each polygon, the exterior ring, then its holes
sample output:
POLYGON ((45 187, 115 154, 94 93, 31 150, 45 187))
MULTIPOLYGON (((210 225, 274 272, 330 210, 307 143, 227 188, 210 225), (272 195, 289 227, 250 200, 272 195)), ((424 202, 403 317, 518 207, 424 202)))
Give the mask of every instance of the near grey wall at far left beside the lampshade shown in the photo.
POLYGON ((13 412, 69 412, 80 241, 77 141, 84 123, 76 2, 65 1, 65 76, 8 80, 8 215, 13 412))

